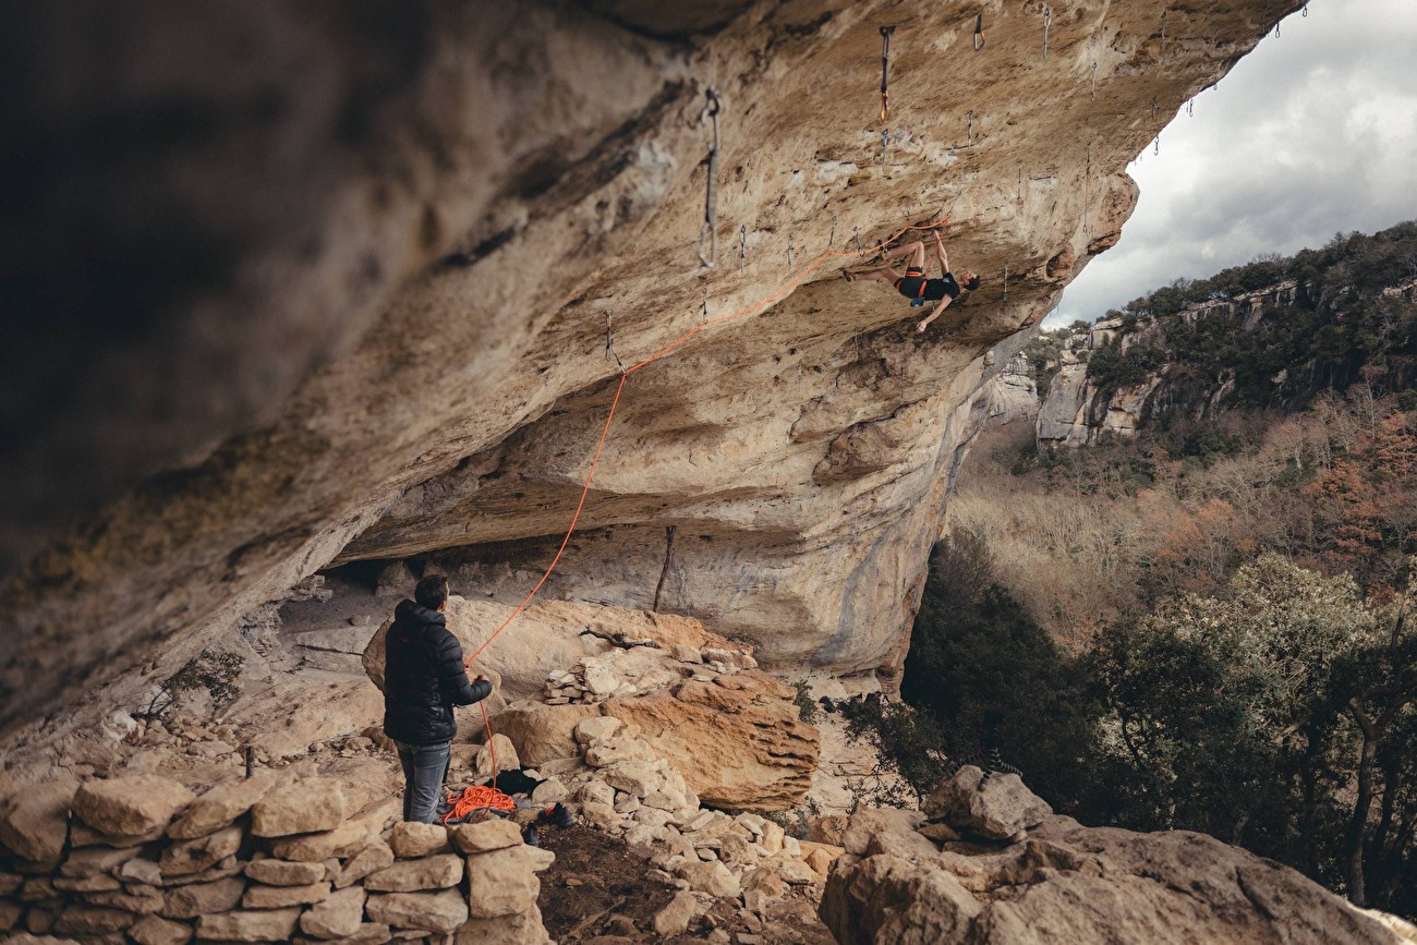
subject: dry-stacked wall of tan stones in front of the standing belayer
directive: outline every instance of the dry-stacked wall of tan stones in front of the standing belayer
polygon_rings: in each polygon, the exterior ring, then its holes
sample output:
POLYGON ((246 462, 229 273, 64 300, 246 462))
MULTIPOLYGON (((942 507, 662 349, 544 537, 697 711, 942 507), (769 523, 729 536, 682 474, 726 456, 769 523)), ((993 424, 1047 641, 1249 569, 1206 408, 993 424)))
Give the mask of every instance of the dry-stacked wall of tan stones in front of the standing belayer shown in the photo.
POLYGON ((347 816, 329 778, 262 772, 197 798, 157 775, 51 781, 0 802, 0 932, 78 942, 550 941, 514 823, 347 816), (24 932, 21 932, 21 929, 24 932))

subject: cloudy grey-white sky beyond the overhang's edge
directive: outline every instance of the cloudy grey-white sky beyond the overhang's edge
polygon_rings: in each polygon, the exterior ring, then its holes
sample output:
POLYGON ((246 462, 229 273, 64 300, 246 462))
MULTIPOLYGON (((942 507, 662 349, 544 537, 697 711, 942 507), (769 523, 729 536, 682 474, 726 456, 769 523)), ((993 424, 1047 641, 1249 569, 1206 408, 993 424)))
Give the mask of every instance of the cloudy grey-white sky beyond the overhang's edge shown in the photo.
POLYGON ((1049 327, 1179 276, 1417 218, 1417 0, 1311 0, 1129 169, 1142 194, 1049 327))

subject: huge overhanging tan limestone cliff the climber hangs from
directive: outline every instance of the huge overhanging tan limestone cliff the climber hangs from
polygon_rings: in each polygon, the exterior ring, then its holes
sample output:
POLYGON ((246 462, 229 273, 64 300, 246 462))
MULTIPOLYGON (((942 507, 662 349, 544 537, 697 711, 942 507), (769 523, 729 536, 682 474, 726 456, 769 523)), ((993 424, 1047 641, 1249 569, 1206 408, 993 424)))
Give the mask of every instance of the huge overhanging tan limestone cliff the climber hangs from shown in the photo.
POLYGON ((21 4, 0 725, 332 562, 436 553, 520 598, 616 390, 608 319, 635 363, 762 299, 626 384, 543 594, 643 606, 663 574, 767 666, 890 672, 982 354, 1298 6, 21 4), (927 334, 809 269, 942 211, 985 285, 927 334))

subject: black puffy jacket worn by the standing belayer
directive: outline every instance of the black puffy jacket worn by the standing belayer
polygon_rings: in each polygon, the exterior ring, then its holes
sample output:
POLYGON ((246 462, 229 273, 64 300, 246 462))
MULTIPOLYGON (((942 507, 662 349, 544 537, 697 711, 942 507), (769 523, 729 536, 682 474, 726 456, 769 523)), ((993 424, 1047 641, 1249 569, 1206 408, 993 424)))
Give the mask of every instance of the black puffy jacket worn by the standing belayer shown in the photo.
POLYGON ((453 706, 492 694, 492 683, 469 683, 462 645, 444 615, 402 601, 384 640, 384 734, 410 745, 435 745, 458 734, 453 706))

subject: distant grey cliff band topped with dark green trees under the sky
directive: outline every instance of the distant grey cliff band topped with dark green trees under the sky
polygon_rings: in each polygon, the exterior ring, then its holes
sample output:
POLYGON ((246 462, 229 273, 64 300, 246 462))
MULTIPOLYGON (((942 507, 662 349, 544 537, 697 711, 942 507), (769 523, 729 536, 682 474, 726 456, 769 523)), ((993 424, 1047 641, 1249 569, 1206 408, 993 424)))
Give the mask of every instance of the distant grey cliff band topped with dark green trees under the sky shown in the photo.
POLYGON ((1032 384, 1039 443, 1078 446, 1231 408, 1301 409, 1359 383, 1407 391, 1414 368, 1417 227, 1403 224, 1178 281, 1087 330, 1040 336, 995 378, 995 400, 1032 384))

